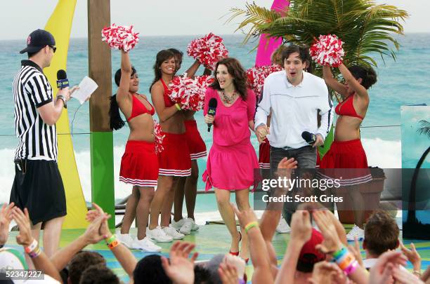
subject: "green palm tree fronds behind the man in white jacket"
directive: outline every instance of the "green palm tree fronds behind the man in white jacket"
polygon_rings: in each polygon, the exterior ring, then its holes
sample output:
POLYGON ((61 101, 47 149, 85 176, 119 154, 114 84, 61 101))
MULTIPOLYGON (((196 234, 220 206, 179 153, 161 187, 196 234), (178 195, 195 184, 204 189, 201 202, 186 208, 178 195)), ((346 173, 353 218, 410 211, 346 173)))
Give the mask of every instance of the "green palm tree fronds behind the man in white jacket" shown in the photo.
MULTIPOLYGON (((403 34, 398 20, 408 18, 408 12, 372 0, 290 0, 283 13, 247 3, 245 9, 232 8, 230 12, 228 21, 245 17, 237 30, 251 26, 245 43, 269 34, 288 43, 310 46, 320 34, 336 34, 344 41, 346 65, 375 67, 377 62, 369 53, 378 53, 382 60, 384 56, 396 60, 394 51, 399 43, 393 34, 403 34)), ((315 71, 321 74, 321 67, 315 71)))

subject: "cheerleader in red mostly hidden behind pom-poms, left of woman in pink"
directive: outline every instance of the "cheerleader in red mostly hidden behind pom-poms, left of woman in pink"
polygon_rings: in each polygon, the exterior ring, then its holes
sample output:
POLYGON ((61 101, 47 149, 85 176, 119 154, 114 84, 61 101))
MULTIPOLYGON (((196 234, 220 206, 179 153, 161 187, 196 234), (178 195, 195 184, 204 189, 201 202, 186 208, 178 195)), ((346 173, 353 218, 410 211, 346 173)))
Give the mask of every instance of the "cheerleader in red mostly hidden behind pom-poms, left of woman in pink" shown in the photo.
MULTIPOLYGON (((176 70, 181 69, 183 53, 176 48, 169 48, 175 55, 176 70)), ((188 78, 193 78, 195 72, 200 67, 200 61, 195 60, 193 65, 185 71, 188 78)), ((211 70, 204 69, 204 75, 210 75, 211 70)), ((188 177, 179 177, 176 182, 175 199, 174 199, 174 219, 171 220, 171 225, 180 233, 188 235, 191 231, 197 231, 199 226, 195 224, 194 209, 195 199, 197 196, 197 181, 199 177, 199 167, 197 165, 197 158, 207 156, 206 144, 197 129, 197 123, 194 119, 195 111, 183 110, 185 135, 187 138, 188 151, 190 152, 191 161, 191 175, 188 177), (187 208, 187 218, 182 216, 183 199, 185 196, 185 203, 187 208)))

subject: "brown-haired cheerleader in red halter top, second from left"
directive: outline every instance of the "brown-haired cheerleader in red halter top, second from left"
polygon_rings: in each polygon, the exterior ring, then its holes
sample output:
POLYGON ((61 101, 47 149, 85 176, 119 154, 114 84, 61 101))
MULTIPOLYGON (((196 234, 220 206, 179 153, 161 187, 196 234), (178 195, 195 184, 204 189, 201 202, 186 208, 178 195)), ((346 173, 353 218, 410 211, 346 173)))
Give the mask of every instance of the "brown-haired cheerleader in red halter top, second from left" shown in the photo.
POLYGON ((190 153, 185 135, 184 115, 181 106, 170 100, 169 83, 176 72, 174 53, 161 50, 157 53, 154 65, 155 79, 150 86, 152 102, 159 118, 164 136, 164 150, 158 154, 158 187, 151 203, 151 212, 161 212, 161 226, 157 213, 151 214, 148 236, 155 241, 164 242, 167 238, 181 239, 183 234, 169 225, 170 212, 174 203, 174 189, 178 177, 191 174, 190 153))

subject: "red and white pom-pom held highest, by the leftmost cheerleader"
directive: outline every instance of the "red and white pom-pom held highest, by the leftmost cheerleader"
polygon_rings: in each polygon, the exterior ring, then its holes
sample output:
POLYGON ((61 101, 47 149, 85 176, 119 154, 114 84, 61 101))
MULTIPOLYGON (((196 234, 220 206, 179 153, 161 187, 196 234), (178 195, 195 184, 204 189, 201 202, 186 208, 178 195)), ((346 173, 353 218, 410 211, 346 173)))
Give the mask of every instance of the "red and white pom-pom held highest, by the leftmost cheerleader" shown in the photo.
POLYGON ((133 26, 117 26, 102 29, 102 41, 106 41, 110 48, 122 49, 125 52, 131 50, 139 41, 138 32, 133 32, 133 26))

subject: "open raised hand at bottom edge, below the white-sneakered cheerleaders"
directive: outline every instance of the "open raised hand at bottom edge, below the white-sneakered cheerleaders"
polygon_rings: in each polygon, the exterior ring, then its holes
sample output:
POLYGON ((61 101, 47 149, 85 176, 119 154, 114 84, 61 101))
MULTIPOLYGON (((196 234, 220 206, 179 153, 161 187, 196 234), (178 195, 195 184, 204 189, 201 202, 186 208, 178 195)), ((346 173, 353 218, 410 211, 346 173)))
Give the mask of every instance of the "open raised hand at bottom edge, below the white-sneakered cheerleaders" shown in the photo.
POLYGON ((171 246, 169 259, 162 257, 162 266, 167 276, 174 284, 194 283, 194 262, 198 253, 188 259, 188 255, 195 248, 195 244, 178 241, 171 246))

